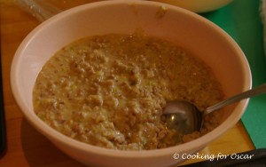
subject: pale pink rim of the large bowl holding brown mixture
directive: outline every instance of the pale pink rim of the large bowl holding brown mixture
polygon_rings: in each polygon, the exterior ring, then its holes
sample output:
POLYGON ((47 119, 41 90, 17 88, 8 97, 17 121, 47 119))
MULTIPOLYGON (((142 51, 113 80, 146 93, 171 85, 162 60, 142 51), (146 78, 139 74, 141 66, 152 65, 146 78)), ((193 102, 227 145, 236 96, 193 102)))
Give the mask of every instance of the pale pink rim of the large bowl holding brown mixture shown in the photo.
MULTIPOLYGON (((33 31, 31 31, 27 37, 22 41, 20 44, 17 52, 15 53, 15 56, 12 60, 12 68, 11 68, 11 86, 12 86, 12 94, 15 95, 14 99, 16 100, 17 104, 21 108, 21 111, 23 115, 27 118, 27 121, 34 125, 36 129, 41 131, 44 136, 48 137, 48 139, 55 139, 57 142, 61 142, 65 145, 68 145, 69 147, 73 147, 75 149, 82 150, 84 152, 90 152, 95 155, 106 155, 106 156, 112 156, 112 157, 124 157, 124 158, 151 158, 151 157, 158 157, 161 155, 169 155, 174 154, 176 152, 178 153, 186 153, 190 152, 192 150, 199 149, 199 143, 202 144, 200 146, 205 147, 210 141, 220 137, 225 131, 230 129, 233 125, 235 125, 241 116, 243 115, 249 99, 243 99, 239 102, 239 104, 234 108, 231 115, 218 127, 215 128, 215 130, 208 132, 207 134, 201 136, 198 139, 193 139, 190 142, 177 145, 175 147, 166 147, 166 148, 160 148, 160 149, 154 149, 154 150, 141 150, 141 151, 134 151, 134 150, 114 150, 110 148, 105 147, 97 147, 92 146, 87 143, 82 143, 81 141, 71 139, 69 137, 66 137, 64 134, 61 134, 59 131, 53 130, 50 126, 48 126, 46 123, 43 123, 42 120, 40 120, 36 115, 33 116, 30 112, 27 111, 27 105, 23 104, 20 99, 22 99, 20 95, 20 91, 18 90, 17 84, 19 84, 19 81, 17 80, 18 76, 18 64, 20 64, 20 55, 26 50, 27 44, 30 43, 30 41, 35 37, 35 34, 39 33, 42 28, 49 27, 52 23, 56 22, 57 20, 61 20, 66 18, 67 16, 75 13, 75 12, 82 12, 84 10, 90 10, 91 8, 103 6, 103 5, 115 5, 115 4, 140 4, 140 5, 163 5, 166 6, 168 9, 171 9, 175 12, 184 12, 187 15, 190 15, 191 17, 194 17, 196 19, 201 20, 205 24, 209 25, 212 28, 215 28, 216 31, 221 33, 223 37, 230 41, 231 44, 235 45, 236 52, 238 52, 239 59, 241 60, 241 64, 243 66, 244 73, 246 74, 245 81, 243 84, 243 90, 247 90, 251 88, 252 79, 251 79, 251 72, 248 65, 248 62, 246 60, 246 57, 244 53, 239 48, 239 45, 229 36, 225 31, 223 31, 222 28, 219 28, 211 21, 201 17, 200 15, 190 12, 188 10, 185 10, 183 8, 173 6, 170 4, 162 4, 159 2, 150 2, 150 1, 135 1, 135 0, 116 0, 116 1, 101 1, 91 4, 83 4, 81 6, 74 7, 72 9, 66 10, 65 12, 61 12, 55 16, 53 16, 49 20, 45 20, 43 23, 41 23, 39 26, 37 26, 33 31), (242 55, 242 56, 240 56, 242 55), (246 67, 246 68, 244 68, 246 67), (36 119, 38 118, 38 119, 36 119), (228 126, 230 124, 230 126, 228 126)), ((200 148, 201 149, 201 148, 200 148)))

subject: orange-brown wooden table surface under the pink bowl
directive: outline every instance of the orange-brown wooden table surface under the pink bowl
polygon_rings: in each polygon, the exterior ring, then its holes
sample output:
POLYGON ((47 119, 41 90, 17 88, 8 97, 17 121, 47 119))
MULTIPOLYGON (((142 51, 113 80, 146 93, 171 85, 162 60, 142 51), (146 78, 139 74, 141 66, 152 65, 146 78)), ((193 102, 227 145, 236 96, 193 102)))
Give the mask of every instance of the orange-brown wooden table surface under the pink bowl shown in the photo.
MULTIPOLYGON (((12 58, 21 41, 40 22, 23 11, 12 0, 1 2, 1 50, 4 85, 4 107, 7 131, 7 150, 0 159, 0 166, 83 166, 62 153, 43 137, 23 118, 20 108, 12 97, 10 69, 12 58)), ((90 3, 91 0, 50 0, 61 9, 78 4, 90 3)), ((204 155, 229 155, 254 149, 241 122, 230 131, 200 151, 204 155)), ((202 161, 188 160, 185 163, 202 161)))

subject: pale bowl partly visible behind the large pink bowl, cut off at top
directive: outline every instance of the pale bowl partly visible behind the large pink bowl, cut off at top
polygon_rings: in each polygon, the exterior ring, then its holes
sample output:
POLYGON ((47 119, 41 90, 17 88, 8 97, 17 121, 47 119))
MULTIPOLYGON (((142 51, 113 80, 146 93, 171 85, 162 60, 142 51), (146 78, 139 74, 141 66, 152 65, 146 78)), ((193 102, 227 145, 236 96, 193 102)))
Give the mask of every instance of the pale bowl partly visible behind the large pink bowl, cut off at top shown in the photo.
POLYGON ((154 0, 157 2, 174 4, 192 12, 211 12, 219 9, 232 0, 154 0))

